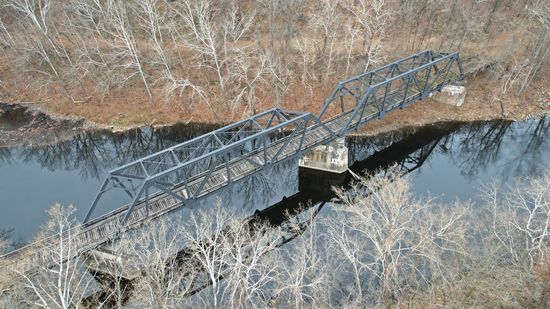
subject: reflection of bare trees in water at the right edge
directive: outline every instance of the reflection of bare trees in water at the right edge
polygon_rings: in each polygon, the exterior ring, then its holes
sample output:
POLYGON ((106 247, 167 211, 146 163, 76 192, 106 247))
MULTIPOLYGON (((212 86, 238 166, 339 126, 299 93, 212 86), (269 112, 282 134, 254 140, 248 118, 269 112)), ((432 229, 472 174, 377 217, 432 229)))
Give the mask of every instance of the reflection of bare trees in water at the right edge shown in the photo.
POLYGON ((543 163, 548 148, 545 137, 549 131, 548 116, 522 123, 479 122, 449 136, 441 148, 451 153, 461 173, 468 178, 508 157, 510 159, 498 167, 503 177, 528 175, 543 163))

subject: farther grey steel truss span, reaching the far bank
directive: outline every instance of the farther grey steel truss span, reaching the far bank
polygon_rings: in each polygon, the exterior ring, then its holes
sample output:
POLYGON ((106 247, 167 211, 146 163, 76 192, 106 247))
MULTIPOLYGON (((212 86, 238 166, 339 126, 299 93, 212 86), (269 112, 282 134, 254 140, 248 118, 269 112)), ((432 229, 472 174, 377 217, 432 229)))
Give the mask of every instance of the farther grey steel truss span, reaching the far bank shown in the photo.
POLYGON ((334 115, 346 117, 337 132, 344 136, 373 118, 425 99, 463 78, 458 53, 423 51, 339 83, 319 119, 324 122, 334 115))

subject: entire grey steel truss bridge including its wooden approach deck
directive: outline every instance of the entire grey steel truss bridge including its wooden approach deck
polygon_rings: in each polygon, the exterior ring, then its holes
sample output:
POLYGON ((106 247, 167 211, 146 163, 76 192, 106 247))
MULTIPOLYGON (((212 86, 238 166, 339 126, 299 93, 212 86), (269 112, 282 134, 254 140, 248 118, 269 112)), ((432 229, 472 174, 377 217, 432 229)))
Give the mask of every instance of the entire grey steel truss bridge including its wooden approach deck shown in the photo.
POLYGON ((0 275, 55 265, 61 241, 74 247, 64 256, 72 259, 124 230, 295 159, 462 79, 458 53, 423 51, 339 83, 319 115, 267 110, 128 163, 108 173, 81 226, 4 255, 0 275), (129 203, 92 219, 110 190, 125 192, 129 203))

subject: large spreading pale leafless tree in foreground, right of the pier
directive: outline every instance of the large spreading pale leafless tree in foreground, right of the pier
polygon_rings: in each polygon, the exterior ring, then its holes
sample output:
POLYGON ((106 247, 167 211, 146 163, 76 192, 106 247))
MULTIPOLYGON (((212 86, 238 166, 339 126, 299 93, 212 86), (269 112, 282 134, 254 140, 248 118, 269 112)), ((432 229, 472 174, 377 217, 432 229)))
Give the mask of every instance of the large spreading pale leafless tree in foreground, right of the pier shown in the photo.
MULTIPOLYGON (((466 255, 463 239, 467 207, 438 206, 415 200, 406 177, 362 178, 350 191, 337 191, 343 205, 330 222, 330 237, 353 278, 352 302, 366 291, 386 303, 415 289, 446 284, 453 261, 466 255)), ((349 275, 349 277, 348 277, 349 275)))

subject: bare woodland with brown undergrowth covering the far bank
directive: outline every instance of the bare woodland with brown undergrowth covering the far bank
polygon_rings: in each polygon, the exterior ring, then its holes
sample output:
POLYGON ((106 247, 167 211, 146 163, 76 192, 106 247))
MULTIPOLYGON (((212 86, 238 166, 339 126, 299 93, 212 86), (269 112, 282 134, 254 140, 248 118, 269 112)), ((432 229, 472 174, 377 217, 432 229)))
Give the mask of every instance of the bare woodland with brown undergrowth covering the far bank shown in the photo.
MULTIPOLYGON (((314 111, 343 79, 459 51, 494 100, 548 74, 545 0, 3 0, 0 93, 14 102, 170 104, 227 121, 314 111), (541 74, 546 70, 546 74, 541 74)), ((126 104, 126 105, 125 105, 126 104)))

